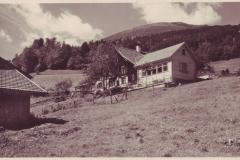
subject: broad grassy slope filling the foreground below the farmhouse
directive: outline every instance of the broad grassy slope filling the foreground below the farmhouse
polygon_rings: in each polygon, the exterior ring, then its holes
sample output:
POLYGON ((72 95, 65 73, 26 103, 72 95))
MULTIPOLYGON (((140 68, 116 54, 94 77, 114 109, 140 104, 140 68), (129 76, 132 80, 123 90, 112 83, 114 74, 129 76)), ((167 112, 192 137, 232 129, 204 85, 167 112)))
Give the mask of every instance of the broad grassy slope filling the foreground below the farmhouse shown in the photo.
POLYGON ((31 112, 42 124, 1 132, 0 155, 240 156, 239 93, 239 77, 223 77, 138 90, 115 104, 35 98, 31 112))

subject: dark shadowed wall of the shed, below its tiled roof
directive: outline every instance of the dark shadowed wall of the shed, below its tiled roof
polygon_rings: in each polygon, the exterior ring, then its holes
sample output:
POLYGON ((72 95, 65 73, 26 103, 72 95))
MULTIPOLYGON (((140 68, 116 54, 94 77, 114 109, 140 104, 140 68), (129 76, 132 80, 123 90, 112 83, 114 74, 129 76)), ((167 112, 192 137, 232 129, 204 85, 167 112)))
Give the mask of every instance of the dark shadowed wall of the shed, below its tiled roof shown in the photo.
POLYGON ((30 96, 0 94, 0 125, 18 125, 28 120, 30 96))

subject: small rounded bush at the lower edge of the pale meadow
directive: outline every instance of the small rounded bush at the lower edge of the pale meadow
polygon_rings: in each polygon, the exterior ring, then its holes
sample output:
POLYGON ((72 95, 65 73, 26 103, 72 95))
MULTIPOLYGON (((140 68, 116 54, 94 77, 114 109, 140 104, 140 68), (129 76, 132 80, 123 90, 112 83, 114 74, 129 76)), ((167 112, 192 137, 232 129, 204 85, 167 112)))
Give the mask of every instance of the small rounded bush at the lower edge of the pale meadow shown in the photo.
POLYGON ((70 79, 63 80, 55 85, 55 90, 59 94, 69 94, 72 87, 72 81, 70 79))

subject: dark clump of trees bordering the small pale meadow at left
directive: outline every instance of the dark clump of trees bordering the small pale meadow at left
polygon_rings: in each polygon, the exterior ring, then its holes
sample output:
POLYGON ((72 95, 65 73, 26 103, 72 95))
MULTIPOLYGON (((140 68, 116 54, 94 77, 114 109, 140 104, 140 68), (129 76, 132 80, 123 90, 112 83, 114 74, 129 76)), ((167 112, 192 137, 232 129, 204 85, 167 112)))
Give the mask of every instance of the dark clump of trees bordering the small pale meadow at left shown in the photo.
POLYGON ((13 59, 13 63, 27 73, 46 69, 82 69, 90 62, 90 47, 84 42, 81 47, 60 43, 56 38, 35 39, 29 48, 13 59))

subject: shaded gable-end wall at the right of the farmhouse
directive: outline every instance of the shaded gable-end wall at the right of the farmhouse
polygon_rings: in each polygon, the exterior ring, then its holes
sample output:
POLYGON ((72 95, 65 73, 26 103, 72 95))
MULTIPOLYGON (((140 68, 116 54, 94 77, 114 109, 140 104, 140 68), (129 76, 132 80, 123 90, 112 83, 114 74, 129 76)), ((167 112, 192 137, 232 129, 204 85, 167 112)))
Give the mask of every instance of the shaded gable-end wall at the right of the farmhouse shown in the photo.
POLYGON ((173 79, 194 80, 196 78, 197 65, 188 50, 183 46, 172 56, 173 79), (185 50, 185 55, 183 55, 185 50), (180 71, 180 63, 187 63, 187 73, 180 71))

